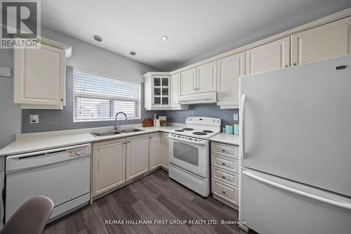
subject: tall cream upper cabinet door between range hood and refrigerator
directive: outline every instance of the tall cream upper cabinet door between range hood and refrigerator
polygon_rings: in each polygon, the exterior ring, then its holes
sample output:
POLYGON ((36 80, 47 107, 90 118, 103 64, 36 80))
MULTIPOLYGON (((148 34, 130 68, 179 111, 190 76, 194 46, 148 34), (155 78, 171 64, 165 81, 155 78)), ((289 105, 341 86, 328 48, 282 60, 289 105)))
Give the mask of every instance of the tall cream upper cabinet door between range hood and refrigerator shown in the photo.
POLYGON ((218 60, 218 104, 239 105, 239 77, 245 74, 245 52, 218 60), (225 103, 223 103, 225 104, 225 103))

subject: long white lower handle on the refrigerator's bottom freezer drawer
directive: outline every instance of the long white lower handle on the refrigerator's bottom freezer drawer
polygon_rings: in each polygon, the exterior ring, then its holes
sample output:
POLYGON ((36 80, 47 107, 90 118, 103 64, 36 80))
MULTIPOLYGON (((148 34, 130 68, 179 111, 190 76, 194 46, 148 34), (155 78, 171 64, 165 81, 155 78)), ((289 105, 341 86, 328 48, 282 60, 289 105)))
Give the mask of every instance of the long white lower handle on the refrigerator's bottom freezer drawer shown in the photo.
POLYGON ((347 204, 347 203, 343 203, 343 202, 337 202, 337 201, 330 200, 330 199, 327 199, 327 198, 324 198, 324 197, 319 197, 317 195, 306 193, 306 192, 297 190, 295 188, 290 188, 288 186, 283 186, 280 183, 275 183, 275 182, 269 181, 269 180, 267 180, 265 178, 261 178, 260 176, 256 176, 254 174, 251 174, 249 171, 242 171, 242 173, 245 174, 246 176, 249 176, 250 178, 253 178, 253 179, 257 180, 257 181, 260 181, 260 182, 263 182, 263 183, 267 183, 270 186, 273 186, 273 187, 276 187, 276 188, 280 188, 282 190, 286 190, 286 191, 288 191, 290 193, 295 193, 295 194, 301 195, 303 197, 310 198, 312 200, 317 200, 319 202, 324 202, 326 204, 331 204, 331 205, 333 205, 335 207, 340 207, 340 208, 343 208, 343 209, 350 209, 351 210, 351 204, 347 204))

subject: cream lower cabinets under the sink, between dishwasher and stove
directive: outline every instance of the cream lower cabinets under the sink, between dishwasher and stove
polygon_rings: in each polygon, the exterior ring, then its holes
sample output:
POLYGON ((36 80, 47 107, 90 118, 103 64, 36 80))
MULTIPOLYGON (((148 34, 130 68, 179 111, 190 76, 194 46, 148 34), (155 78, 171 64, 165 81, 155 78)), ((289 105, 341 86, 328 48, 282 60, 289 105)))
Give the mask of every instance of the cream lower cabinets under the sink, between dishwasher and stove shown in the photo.
POLYGON ((158 167, 168 169, 168 133, 93 143, 91 194, 105 195, 158 167))

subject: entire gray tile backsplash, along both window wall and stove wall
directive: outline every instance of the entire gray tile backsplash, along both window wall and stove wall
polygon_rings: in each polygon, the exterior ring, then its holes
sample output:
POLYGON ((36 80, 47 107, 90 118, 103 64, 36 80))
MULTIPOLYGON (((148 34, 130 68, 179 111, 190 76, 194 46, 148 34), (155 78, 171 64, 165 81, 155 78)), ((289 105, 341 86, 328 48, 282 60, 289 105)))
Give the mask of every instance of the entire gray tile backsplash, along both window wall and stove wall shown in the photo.
MULTIPOLYGON (((66 79, 66 106, 62 110, 22 110, 22 133, 83 129, 114 124, 114 121, 73 122, 73 67, 67 66, 66 79), (29 115, 39 115, 39 123, 29 124, 29 115)), ((238 109, 221 110, 216 103, 190 105, 189 110, 145 110, 143 84, 141 90, 141 119, 131 119, 128 122, 121 120, 119 124, 140 124, 144 118, 152 118, 154 113, 158 116, 165 115, 168 122, 185 123, 187 117, 203 116, 222 119, 222 126, 237 123, 233 121, 233 114, 239 113, 238 109)))

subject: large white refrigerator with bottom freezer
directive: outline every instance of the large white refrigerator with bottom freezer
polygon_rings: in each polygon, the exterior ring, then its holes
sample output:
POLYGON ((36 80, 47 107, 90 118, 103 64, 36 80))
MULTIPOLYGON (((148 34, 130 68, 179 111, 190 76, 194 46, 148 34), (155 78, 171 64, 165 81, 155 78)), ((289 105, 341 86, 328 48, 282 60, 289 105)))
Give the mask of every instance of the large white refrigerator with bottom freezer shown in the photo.
POLYGON ((351 233, 351 56, 240 78, 239 219, 351 233))

